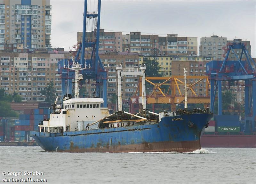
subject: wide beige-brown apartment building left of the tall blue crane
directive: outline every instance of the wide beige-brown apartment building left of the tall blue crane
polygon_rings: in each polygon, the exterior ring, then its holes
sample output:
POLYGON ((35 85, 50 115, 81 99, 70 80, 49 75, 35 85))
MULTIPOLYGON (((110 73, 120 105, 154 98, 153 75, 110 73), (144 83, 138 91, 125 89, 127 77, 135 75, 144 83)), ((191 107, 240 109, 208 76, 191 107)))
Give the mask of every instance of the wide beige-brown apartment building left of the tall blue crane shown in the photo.
POLYGON ((47 50, 33 53, 0 51, 0 88, 6 94, 17 92, 22 101, 43 102, 40 94, 51 81, 61 100, 61 79, 58 61, 71 58, 74 52, 50 52, 47 50))

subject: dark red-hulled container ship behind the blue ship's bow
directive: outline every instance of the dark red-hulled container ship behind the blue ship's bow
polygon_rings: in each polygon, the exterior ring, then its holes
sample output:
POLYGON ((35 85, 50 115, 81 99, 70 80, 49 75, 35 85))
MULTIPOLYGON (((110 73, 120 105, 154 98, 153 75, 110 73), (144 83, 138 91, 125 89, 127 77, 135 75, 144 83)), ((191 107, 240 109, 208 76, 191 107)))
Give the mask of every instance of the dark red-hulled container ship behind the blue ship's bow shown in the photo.
POLYGON ((256 148, 256 132, 239 116, 214 116, 201 137, 204 148, 256 148))

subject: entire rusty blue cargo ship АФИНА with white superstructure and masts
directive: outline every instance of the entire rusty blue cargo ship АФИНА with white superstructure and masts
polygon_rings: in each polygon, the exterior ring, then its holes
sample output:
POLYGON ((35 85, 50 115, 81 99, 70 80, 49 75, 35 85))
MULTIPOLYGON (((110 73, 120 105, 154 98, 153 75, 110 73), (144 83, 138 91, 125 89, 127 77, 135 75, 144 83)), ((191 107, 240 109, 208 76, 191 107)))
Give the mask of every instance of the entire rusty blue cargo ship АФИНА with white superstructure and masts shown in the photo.
POLYGON ((202 130, 208 126, 213 114, 206 110, 189 111, 187 108, 186 68, 185 109, 159 114, 146 108, 145 65, 140 68, 116 66, 118 85, 118 111, 108 114, 101 108, 101 98, 79 98, 78 82, 83 79, 79 70, 86 68, 73 61, 75 94, 63 96, 62 105, 52 105, 49 119, 39 123, 33 138, 45 151, 57 152, 189 152, 201 149, 202 130), (122 110, 121 73, 142 76, 142 110, 131 114, 122 110), (134 73, 135 72, 135 73, 134 73))

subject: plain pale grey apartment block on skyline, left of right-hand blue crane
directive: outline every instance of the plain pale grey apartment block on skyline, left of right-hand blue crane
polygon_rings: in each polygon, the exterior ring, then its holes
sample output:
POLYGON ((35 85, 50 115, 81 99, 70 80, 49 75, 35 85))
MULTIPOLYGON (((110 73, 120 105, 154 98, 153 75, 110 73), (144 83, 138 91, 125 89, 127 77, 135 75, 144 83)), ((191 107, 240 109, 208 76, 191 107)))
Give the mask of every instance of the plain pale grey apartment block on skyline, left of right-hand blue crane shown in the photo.
POLYGON ((212 57, 213 60, 223 60, 225 51, 223 47, 227 45, 226 37, 213 35, 200 39, 200 56, 212 57))

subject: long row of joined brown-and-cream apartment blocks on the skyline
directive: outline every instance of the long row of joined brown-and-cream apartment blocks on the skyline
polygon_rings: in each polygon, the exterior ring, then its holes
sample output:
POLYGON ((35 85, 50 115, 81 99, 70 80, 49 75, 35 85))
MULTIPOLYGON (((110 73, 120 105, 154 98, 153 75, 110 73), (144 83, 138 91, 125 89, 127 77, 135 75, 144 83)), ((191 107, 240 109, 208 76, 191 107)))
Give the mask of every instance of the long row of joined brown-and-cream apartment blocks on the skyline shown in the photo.
MULTIPOLYGON (((82 35, 82 32, 77 32, 77 44, 82 43, 82 35)), ((86 32, 85 40, 94 41, 94 32, 86 32)), ((177 34, 160 37, 130 32, 122 35, 122 32, 105 32, 100 29, 99 42, 99 52, 133 52, 142 56, 197 56, 197 37, 178 37, 177 34)))

